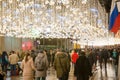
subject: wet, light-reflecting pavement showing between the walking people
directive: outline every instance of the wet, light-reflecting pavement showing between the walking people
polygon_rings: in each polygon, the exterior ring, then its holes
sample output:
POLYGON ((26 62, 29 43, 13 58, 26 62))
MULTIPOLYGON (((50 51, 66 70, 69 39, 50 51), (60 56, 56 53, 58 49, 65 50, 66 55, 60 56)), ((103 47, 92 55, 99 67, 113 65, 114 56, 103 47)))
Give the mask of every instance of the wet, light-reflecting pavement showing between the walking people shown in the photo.
MULTIPOLYGON (((74 70, 71 69, 69 74, 69 80, 75 80, 75 77, 73 76, 73 71, 74 70)), ((57 80, 56 72, 52 67, 49 68, 47 74, 48 76, 46 80, 57 80)), ((22 76, 8 77, 6 80, 22 80, 22 76)), ((98 66, 97 70, 94 72, 93 76, 91 77, 91 80, 117 80, 115 77, 115 71, 113 65, 108 64, 107 70, 105 70, 104 67, 102 70, 100 70, 100 67, 98 66)))

